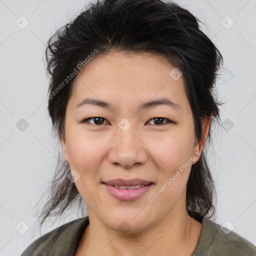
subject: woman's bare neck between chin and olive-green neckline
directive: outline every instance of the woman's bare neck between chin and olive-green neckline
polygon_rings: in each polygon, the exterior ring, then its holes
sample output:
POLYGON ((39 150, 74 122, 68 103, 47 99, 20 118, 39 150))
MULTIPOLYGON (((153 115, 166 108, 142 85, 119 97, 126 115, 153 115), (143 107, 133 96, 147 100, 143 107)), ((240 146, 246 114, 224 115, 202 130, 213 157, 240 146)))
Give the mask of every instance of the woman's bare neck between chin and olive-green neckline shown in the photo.
POLYGON ((89 214, 89 220, 82 245, 77 249, 82 255, 158 255, 159 249, 161 255, 191 255, 201 232, 201 223, 189 217, 186 210, 169 213, 160 222, 136 233, 110 229, 93 214, 89 214))

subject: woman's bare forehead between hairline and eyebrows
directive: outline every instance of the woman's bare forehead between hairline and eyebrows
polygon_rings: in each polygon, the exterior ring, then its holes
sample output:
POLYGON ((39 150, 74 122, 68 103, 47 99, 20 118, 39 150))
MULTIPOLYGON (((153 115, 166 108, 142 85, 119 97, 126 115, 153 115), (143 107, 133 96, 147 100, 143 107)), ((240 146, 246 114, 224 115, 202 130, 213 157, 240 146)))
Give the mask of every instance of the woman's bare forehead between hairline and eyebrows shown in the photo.
POLYGON ((183 77, 173 79, 173 68, 175 70, 175 66, 160 55, 111 51, 92 58, 81 69, 73 83, 72 97, 76 104, 85 96, 92 96, 140 105, 150 99, 167 97, 184 105, 183 77))

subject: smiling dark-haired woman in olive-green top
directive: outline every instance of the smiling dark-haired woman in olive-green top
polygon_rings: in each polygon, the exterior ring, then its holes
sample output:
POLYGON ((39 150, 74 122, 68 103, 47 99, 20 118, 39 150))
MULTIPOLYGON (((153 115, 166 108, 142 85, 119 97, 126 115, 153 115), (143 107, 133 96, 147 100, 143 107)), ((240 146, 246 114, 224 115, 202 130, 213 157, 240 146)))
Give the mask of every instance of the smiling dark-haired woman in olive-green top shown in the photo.
POLYGON ((21 256, 256 255, 209 219, 204 145, 222 56, 198 22, 172 2, 104 0, 49 39, 48 111, 65 164, 42 222, 76 199, 88 216, 21 256))

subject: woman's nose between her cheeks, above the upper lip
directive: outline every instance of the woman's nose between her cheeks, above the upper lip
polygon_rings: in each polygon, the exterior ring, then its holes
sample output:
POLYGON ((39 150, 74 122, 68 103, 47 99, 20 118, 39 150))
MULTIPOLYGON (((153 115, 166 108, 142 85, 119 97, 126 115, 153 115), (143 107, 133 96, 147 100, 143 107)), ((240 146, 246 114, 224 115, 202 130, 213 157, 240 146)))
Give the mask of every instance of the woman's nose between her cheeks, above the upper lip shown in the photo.
POLYGON ((113 164, 130 168, 146 161, 146 148, 141 134, 136 132, 132 125, 126 131, 117 127, 116 134, 111 139, 108 160, 113 164))

